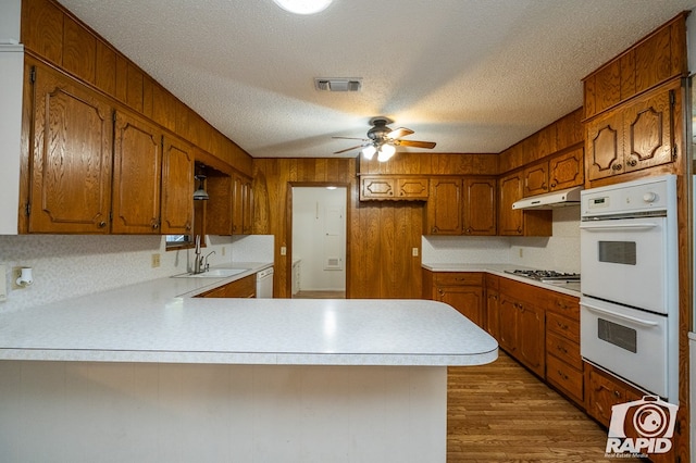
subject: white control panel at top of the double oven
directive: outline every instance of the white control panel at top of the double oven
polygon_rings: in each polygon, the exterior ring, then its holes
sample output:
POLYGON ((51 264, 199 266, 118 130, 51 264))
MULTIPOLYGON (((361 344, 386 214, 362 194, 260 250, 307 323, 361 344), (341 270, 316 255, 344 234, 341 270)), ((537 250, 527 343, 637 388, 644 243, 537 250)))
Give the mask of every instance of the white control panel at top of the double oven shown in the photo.
POLYGON ((581 216, 666 213, 676 204, 676 176, 663 175, 581 191, 581 216))

